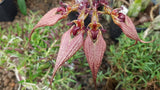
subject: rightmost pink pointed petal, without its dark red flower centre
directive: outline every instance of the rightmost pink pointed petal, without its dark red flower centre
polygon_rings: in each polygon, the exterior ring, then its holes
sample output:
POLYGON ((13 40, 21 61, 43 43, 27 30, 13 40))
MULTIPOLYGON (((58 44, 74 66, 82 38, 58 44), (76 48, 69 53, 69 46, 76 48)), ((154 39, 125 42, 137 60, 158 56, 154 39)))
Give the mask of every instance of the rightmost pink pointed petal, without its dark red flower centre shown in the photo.
POLYGON ((143 41, 143 40, 141 40, 141 39, 139 38, 139 36, 138 36, 138 34, 137 34, 137 31, 136 31, 136 28, 135 28, 132 20, 131 20, 128 16, 125 16, 125 22, 121 22, 118 26, 122 29, 123 33, 124 33, 127 37, 129 37, 129 38, 131 38, 131 39, 133 39, 133 40, 136 40, 136 42, 137 42, 137 41, 140 41, 140 42, 142 42, 142 43, 150 43, 150 42, 153 42, 153 41, 145 42, 145 41, 143 41))

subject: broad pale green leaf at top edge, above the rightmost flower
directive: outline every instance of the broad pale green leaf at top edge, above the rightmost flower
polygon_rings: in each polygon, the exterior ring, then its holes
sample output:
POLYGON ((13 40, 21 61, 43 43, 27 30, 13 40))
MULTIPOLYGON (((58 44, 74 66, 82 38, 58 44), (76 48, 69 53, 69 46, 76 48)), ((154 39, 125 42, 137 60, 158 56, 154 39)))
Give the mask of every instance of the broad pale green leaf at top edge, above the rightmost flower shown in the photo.
POLYGON ((142 8, 142 0, 135 0, 129 7, 128 16, 136 17, 142 8))

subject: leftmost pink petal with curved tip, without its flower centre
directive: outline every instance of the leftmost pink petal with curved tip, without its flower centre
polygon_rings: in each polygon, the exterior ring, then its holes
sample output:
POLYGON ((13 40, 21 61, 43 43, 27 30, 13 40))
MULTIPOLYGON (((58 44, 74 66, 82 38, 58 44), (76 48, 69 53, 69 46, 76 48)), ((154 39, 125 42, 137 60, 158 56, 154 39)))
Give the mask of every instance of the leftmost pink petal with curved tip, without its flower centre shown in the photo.
POLYGON ((56 14, 58 8, 53 8, 50 11, 48 11, 41 19, 40 21, 36 24, 36 26, 32 29, 29 39, 31 38, 32 33, 34 30, 38 27, 44 27, 44 26, 52 26, 56 24, 60 19, 63 18, 63 15, 61 14, 56 14))

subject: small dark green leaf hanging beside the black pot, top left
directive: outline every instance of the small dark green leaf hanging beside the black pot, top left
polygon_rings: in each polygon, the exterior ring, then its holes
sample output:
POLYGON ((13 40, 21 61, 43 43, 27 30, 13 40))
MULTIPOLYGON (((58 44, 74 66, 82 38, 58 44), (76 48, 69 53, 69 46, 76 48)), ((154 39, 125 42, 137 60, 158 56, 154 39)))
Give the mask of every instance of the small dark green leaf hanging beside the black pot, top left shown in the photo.
POLYGON ((25 0, 17 0, 18 7, 23 15, 27 15, 27 8, 25 0))

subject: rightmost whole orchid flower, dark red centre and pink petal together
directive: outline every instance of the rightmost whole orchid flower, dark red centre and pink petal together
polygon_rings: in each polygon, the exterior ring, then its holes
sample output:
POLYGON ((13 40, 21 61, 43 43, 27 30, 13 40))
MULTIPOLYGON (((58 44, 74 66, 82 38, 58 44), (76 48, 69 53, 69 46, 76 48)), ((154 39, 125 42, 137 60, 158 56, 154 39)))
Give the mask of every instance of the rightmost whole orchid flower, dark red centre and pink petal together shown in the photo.
MULTIPOLYGON (((153 41, 148 41, 145 42, 143 40, 141 40, 137 34, 136 28, 132 22, 132 20, 124 15, 123 13, 119 12, 122 8, 118 8, 118 9, 114 9, 114 10, 109 10, 111 12, 109 12, 111 14, 111 17, 114 21, 115 24, 117 24, 123 31, 123 33, 133 39, 136 40, 135 44, 137 44, 138 41, 142 42, 142 43, 151 43, 153 41)), ((134 44, 134 45, 135 45, 134 44)))

